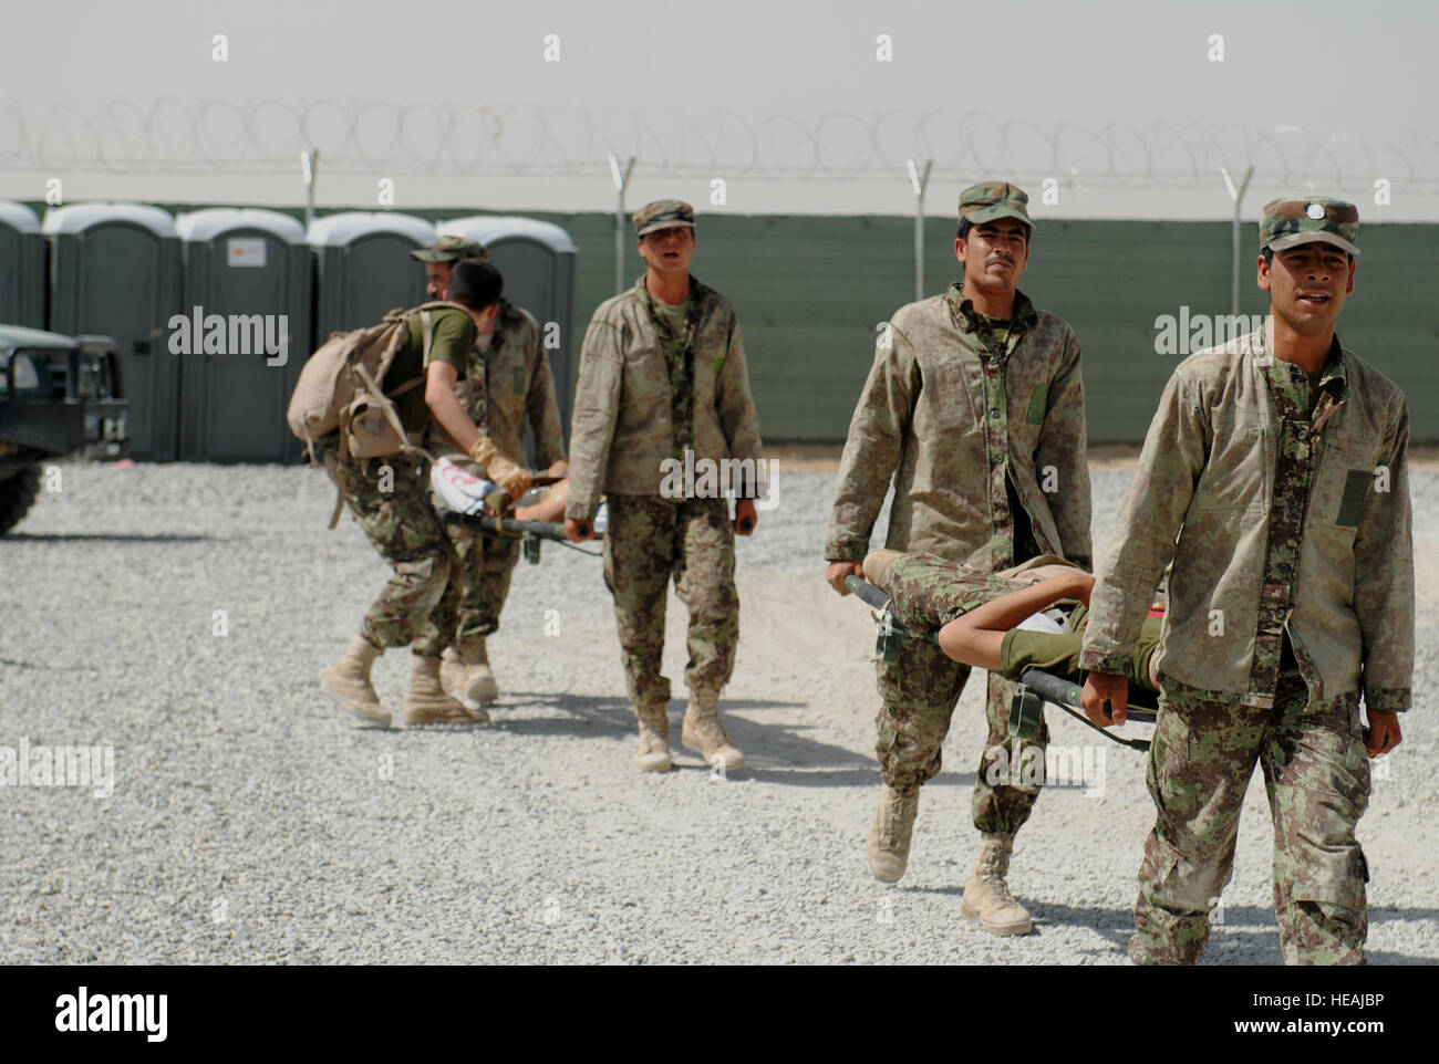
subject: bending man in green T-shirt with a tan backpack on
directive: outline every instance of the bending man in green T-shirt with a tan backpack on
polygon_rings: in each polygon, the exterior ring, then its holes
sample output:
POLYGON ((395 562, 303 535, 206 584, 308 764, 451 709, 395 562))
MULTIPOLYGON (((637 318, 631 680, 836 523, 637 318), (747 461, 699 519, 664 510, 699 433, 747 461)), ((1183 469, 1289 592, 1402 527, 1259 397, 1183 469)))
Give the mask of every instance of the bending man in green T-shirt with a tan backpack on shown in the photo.
MULTIPOLYGON (((504 459, 469 420, 455 381, 475 347, 476 332, 492 328, 498 313, 499 272, 489 263, 456 267, 450 298, 466 309, 435 308, 412 315, 384 384, 412 440, 436 418, 466 451, 508 490, 524 490, 528 474, 504 459), (426 321, 429 319, 429 335, 426 321)), ((355 459, 340 446, 338 433, 321 441, 325 469, 394 575, 366 614, 360 636, 322 677, 335 702, 367 723, 389 728, 390 710, 376 696, 370 669, 386 647, 413 644, 404 722, 472 722, 482 719, 445 694, 439 683, 440 651, 453 641, 459 608, 458 565, 439 515, 430 505, 429 462, 414 454, 355 459)))

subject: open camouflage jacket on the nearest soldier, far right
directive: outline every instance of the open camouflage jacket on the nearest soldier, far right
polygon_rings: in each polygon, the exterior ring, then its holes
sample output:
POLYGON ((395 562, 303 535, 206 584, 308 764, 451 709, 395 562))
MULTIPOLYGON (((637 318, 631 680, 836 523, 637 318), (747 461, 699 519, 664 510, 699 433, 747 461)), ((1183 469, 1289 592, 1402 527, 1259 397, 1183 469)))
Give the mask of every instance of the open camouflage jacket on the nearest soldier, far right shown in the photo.
POLYGON ((1409 706, 1404 395, 1337 339, 1312 418, 1299 388, 1304 371, 1265 354, 1261 332, 1176 368, 1098 572, 1081 667, 1122 671, 1173 559, 1161 680, 1271 706, 1288 633, 1311 697, 1363 689, 1370 709, 1409 706))

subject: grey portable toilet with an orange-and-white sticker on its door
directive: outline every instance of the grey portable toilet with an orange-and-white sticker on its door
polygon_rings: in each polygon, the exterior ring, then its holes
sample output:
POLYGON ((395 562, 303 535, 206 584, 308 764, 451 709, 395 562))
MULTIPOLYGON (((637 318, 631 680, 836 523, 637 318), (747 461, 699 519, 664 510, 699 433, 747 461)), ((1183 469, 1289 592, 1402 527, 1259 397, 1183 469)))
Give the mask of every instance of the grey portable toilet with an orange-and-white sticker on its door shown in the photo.
POLYGON ((189 351, 180 357, 180 457, 299 460, 285 407, 311 352, 305 227, 272 210, 216 207, 181 214, 176 230, 189 341, 176 344, 189 351))

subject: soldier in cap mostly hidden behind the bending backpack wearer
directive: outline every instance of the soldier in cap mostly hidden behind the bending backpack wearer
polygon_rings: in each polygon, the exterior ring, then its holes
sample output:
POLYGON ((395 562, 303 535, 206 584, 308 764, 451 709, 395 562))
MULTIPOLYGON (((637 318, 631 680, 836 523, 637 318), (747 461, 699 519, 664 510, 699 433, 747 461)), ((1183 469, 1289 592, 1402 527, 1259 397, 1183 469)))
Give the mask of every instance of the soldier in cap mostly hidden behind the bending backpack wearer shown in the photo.
MULTIPOLYGON (((458 236, 442 236, 433 247, 410 252, 425 263, 429 293, 443 299, 450 267, 463 259, 488 259, 484 244, 458 236)), ((522 459, 525 421, 535 437, 535 464, 548 476, 564 476, 564 430, 555 400, 550 359, 540 342, 540 325, 524 309, 501 296, 494 331, 479 334, 455 387, 471 420, 501 454, 522 459)), ((482 473, 435 424, 430 450, 443 454, 471 473, 482 473)), ((459 605, 455 640, 445 648, 440 680, 446 690, 471 703, 494 702, 499 684, 489 666, 485 637, 499 630, 499 611, 509 594, 509 578, 519 561, 518 539, 486 539, 459 525, 446 525, 459 565, 459 605)), ((482 710, 481 710, 482 712, 482 710)))

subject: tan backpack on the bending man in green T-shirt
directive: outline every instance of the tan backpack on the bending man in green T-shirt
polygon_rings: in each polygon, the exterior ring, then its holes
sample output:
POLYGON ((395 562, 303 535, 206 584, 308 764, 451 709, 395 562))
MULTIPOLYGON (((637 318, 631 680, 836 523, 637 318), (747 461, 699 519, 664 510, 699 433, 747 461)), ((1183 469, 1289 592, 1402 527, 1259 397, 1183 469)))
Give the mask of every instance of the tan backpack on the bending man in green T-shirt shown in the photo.
POLYGON ((425 372, 389 393, 384 391, 384 377, 404 344, 406 322, 416 313, 425 334, 423 365, 429 367, 435 341, 430 312, 440 308, 468 313, 460 303, 445 301, 420 303, 410 311, 390 311, 378 325, 330 334, 330 339, 309 357, 289 397, 285 418, 289 430, 305 441, 311 462, 315 460, 315 440, 337 428, 341 457, 423 453, 406 436, 394 400, 425 384, 425 372))

